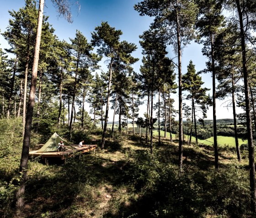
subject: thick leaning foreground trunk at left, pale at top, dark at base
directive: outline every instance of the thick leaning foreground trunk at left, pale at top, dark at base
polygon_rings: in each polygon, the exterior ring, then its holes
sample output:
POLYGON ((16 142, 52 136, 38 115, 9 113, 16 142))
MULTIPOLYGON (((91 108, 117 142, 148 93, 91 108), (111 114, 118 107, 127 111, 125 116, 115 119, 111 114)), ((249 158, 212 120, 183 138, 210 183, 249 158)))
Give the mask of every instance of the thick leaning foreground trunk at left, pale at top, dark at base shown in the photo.
POLYGON ((42 24, 43 24, 43 6, 44 6, 44 0, 40 0, 39 9, 38 9, 37 36, 36 36, 35 52, 34 52, 33 67, 32 67, 32 77, 31 77, 29 100, 27 105, 27 117, 26 117, 22 153, 21 153, 21 164, 19 169, 19 172, 22 175, 22 179, 21 179, 20 187, 16 192, 16 200, 17 200, 16 207, 18 209, 24 208, 24 192, 25 192, 25 184, 27 180, 27 162, 29 157, 31 127, 32 127, 34 103, 35 103, 36 85, 37 85, 37 67, 38 67, 38 60, 39 60, 39 50, 40 50, 40 42, 41 42, 42 24))

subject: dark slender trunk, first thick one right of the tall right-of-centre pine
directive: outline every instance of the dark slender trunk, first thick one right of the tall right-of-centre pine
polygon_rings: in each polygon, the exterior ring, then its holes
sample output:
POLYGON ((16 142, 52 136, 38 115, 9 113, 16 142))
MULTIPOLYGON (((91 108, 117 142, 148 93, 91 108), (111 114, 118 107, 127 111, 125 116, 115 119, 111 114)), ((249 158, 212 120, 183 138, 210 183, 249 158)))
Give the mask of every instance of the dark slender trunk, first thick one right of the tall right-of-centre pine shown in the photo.
MULTIPOLYGON (((219 154, 217 143, 217 120, 216 120, 216 88, 215 88, 215 61, 214 61, 214 48, 213 48, 213 35, 210 34, 211 39, 211 56, 212 56, 212 71, 213 71, 213 142, 214 142, 214 159, 215 169, 219 168, 219 154)), ((195 119, 196 117, 194 117, 195 119)))

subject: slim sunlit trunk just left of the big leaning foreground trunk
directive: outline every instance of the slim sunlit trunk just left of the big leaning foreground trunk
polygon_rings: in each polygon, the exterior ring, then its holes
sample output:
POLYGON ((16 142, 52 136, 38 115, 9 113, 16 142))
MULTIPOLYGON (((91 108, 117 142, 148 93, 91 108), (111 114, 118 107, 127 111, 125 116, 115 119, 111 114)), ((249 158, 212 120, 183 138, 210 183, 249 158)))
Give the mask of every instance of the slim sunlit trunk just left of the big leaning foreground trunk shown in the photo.
POLYGON ((27 36, 27 57, 25 64, 25 79, 24 79, 24 92, 23 92, 23 116, 22 116, 22 136, 24 137, 25 123, 26 123, 26 106, 27 106, 27 74, 28 74, 28 62, 29 62, 29 49, 30 49, 30 32, 27 36))

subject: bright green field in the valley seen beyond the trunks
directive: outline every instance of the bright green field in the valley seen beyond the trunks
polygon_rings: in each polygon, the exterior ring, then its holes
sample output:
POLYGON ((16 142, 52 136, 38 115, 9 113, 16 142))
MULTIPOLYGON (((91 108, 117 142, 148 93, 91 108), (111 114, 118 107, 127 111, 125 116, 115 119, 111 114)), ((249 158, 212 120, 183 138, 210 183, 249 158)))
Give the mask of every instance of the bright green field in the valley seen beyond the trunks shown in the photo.
MULTIPOLYGON (((155 136, 158 136, 158 131, 155 130, 153 132, 155 136)), ((160 135, 164 137, 165 132, 161 131, 160 135)), ((170 137, 170 133, 167 132, 166 137, 170 137)), ((175 139, 175 134, 172 134, 172 137, 175 139)), ((185 135, 185 138, 187 139, 187 135, 185 135)), ((192 142, 195 142, 196 138, 192 137, 192 142)), ((235 147, 235 137, 228 137, 228 136, 217 136, 217 142, 219 146, 234 146, 235 147)), ((239 145, 241 144, 247 144, 247 140, 243 141, 241 138, 238 139, 239 145)), ((210 137, 205 140, 198 139, 198 143, 202 143, 205 145, 212 145, 213 144, 213 137, 210 137)))

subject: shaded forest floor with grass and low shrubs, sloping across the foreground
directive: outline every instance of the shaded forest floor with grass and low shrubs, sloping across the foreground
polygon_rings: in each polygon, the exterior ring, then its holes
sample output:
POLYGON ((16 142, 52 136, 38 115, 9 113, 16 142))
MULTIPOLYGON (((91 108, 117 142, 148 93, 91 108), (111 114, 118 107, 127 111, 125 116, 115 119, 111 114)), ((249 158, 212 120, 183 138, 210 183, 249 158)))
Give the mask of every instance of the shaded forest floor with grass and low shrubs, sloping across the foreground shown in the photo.
MULTIPOLYGON (((99 145, 101 135, 91 135, 99 145)), ((238 162, 234 148, 184 145, 183 172, 178 173, 178 143, 154 137, 153 155, 143 137, 115 134, 106 149, 77 154, 65 164, 39 158, 29 162, 25 208, 14 203, 3 217, 147 218, 252 217, 249 211, 248 152, 238 162), (7 213, 8 211, 8 213, 7 213)), ((18 158, 15 165, 18 166, 18 158)), ((3 163, 3 162, 1 162, 3 163)), ((15 167, 13 167, 15 169, 15 167)), ((3 174, 4 166, 0 167, 3 174)), ((5 180, 12 172, 5 172, 5 180)), ((11 201, 11 200, 10 200, 11 201)))

